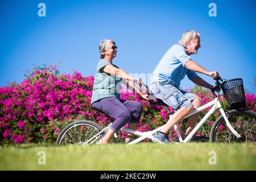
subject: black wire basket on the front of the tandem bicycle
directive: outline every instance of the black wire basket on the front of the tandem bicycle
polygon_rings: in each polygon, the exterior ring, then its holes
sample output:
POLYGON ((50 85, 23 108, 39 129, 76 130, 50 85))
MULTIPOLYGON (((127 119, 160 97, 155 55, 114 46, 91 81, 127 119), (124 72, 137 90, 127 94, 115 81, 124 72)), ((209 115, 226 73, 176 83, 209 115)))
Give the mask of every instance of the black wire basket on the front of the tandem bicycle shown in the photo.
POLYGON ((246 106, 242 78, 224 81, 222 83, 222 92, 226 101, 228 101, 230 109, 240 109, 246 106))

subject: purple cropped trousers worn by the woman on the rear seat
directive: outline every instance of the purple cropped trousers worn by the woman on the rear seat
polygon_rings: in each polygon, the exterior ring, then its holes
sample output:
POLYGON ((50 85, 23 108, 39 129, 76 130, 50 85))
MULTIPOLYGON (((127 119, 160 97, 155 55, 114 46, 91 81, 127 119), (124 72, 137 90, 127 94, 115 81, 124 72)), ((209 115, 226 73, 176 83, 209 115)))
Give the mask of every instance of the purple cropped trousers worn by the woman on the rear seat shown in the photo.
POLYGON ((115 119, 110 126, 110 129, 115 132, 118 132, 126 123, 139 123, 141 119, 142 105, 136 101, 107 97, 93 102, 92 106, 115 119))

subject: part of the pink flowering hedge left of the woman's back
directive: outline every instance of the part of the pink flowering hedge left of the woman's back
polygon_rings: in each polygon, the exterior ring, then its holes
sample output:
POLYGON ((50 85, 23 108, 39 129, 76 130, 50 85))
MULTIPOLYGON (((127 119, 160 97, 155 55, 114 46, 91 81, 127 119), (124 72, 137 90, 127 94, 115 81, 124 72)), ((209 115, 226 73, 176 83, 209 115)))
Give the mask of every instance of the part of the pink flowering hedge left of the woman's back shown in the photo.
POLYGON ((60 75, 50 66, 0 88, 0 143, 54 142, 60 129, 53 121, 96 118, 90 107, 92 86, 92 76, 60 75))

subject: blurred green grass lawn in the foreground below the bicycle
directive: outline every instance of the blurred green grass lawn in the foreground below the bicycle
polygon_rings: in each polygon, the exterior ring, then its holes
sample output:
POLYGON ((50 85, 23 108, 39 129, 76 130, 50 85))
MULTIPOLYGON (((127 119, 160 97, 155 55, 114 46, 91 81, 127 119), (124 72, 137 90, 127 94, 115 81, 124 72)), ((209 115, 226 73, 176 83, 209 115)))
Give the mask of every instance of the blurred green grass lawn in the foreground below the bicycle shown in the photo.
POLYGON ((0 170, 256 170, 256 143, 1 146, 0 170), (39 151, 46 164, 38 164, 39 151))

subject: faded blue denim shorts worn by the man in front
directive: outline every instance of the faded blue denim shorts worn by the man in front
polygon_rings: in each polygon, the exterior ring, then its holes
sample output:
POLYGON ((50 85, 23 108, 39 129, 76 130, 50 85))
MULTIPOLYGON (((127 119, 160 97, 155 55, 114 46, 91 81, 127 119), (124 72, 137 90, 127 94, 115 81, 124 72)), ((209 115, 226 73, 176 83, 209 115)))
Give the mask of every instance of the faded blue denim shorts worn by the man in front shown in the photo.
POLYGON ((196 94, 177 89, 171 80, 152 82, 150 92, 154 97, 159 98, 175 111, 192 106, 191 101, 197 97, 196 94))

